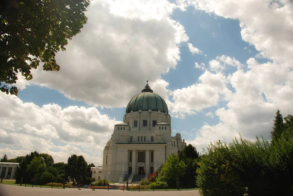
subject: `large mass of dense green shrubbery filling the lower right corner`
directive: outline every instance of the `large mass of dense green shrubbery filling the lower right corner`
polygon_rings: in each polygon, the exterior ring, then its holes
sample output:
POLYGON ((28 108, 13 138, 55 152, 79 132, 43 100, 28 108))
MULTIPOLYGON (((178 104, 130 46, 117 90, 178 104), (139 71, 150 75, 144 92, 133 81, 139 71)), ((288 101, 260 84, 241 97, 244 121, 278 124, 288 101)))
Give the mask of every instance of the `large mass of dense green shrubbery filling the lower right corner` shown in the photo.
POLYGON ((240 137, 229 145, 210 144, 208 150, 197 170, 204 196, 293 194, 293 137, 281 134, 272 144, 263 138, 251 142, 240 137))

